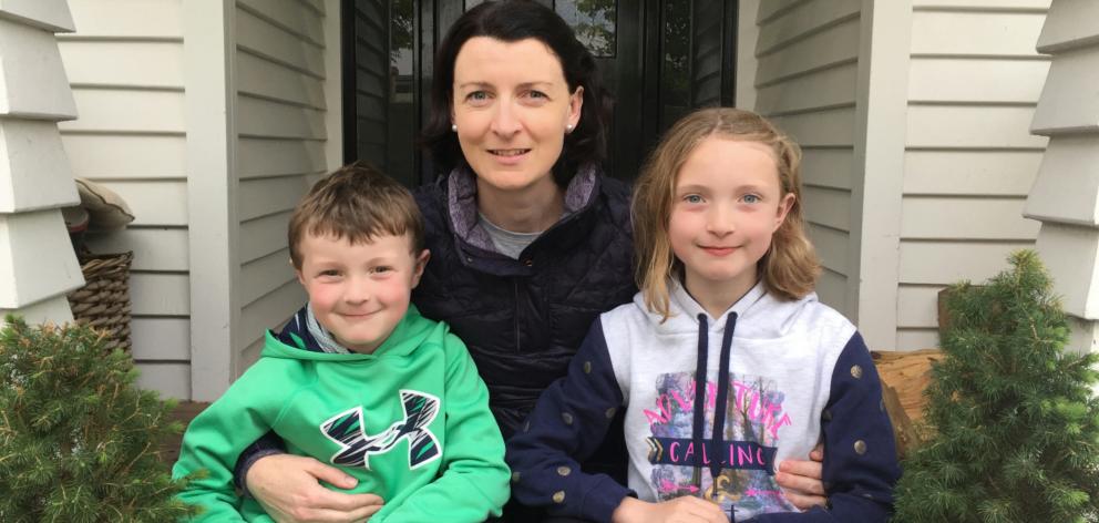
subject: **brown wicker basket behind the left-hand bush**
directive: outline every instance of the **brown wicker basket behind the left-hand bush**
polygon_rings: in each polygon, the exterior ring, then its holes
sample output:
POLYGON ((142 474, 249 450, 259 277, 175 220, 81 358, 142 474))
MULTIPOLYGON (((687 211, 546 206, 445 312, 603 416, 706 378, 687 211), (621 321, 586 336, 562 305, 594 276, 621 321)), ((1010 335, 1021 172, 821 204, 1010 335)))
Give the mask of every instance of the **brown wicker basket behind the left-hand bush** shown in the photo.
POLYGON ((69 294, 73 319, 104 332, 107 348, 130 351, 130 263, 133 252, 80 254, 84 286, 69 294))

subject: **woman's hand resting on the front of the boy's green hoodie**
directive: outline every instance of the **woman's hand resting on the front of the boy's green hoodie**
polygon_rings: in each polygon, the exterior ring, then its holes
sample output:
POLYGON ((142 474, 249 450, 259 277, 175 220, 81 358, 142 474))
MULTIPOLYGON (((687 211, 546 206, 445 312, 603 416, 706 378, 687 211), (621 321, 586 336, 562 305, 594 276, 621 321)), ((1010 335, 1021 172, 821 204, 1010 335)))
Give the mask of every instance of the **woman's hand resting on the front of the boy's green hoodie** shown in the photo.
POLYGON ((339 469, 291 454, 260 458, 245 478, 251 495, 279 523, 361 522, 383 503, 374 494, 336 492, 321 486, 319 481, 340 489, 351 489, 357 483, 339 469))

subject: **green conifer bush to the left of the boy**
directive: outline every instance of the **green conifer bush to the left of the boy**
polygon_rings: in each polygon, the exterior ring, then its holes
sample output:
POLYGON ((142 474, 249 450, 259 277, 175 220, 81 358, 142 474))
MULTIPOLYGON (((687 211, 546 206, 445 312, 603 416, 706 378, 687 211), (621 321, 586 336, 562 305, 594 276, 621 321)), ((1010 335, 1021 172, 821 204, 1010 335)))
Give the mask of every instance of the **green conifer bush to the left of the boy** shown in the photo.
POLYGON ((0 330, 0 521, 167 522, 174 498, 160 443, 174 402, 134 387, 130 356, 85 326, 0 330))

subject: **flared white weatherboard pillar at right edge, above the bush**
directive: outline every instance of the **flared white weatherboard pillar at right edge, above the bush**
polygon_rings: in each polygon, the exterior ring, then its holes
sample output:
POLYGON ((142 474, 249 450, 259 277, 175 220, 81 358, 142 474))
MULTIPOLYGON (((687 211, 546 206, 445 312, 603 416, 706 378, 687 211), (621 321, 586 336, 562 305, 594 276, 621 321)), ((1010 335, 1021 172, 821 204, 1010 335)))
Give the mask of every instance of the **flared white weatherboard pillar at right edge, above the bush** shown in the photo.
POLYGON ((1031 131, 1049 137, 1026 215, 1072 318, 1070 347, 1099 348, 1099 3, 1055 0, 1038 39, 1052 61, 1031 131))

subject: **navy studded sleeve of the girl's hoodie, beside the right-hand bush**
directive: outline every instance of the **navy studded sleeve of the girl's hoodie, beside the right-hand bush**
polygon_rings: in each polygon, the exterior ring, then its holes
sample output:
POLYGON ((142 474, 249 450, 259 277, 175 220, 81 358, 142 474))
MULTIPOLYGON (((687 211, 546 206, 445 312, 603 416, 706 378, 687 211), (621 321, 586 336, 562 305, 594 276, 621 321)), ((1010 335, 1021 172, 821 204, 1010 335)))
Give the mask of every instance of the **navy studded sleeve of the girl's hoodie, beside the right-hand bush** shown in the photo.
POLYGON ((831 387, 821 414, 828 509, 818 506, 802 513, 767 514, 751 521, 874 523, 889 520, 893 510, 893 486, 901 470, 877 370, 857 332, 835 361, 831 387))

